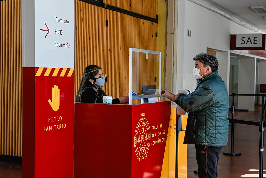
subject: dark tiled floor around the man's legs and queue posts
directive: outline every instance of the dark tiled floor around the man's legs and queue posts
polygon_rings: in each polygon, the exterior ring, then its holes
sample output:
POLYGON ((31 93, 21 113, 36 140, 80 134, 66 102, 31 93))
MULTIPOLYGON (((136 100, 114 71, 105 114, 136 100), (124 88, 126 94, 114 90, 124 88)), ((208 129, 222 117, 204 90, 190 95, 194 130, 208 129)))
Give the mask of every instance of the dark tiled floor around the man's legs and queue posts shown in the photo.
MULTIPOLYGON (((257 108, 254 112, 238 112, 237 119, 259 121, 261 119, 261 109, 257 108)), ((235 124, 234 132, 234 151, 241 152, 241 156, 225 156, 223 151, 231 149, 231 126, 229 127, 228 144, 223 149, 219 164, 219 178, 234 178, 234 177, 259 177, 259 127, 244 124, 235 124), (255 169, 255 171, 251 171, 255 169), (247 175, 251 174, 251 175, 247 175)), ((266 137, 264 134, 264 143, 266 137)), ((265 158, 265 156, 264 156, 265 158)), ((195 145, 188 145, 188 178, 196 178, 194 169, 197 168, 195 145)), ((266 158, 264 159, 264 170, 266 170, 266 158)), ((266 172, 265 177, 266 177, 266 172)))

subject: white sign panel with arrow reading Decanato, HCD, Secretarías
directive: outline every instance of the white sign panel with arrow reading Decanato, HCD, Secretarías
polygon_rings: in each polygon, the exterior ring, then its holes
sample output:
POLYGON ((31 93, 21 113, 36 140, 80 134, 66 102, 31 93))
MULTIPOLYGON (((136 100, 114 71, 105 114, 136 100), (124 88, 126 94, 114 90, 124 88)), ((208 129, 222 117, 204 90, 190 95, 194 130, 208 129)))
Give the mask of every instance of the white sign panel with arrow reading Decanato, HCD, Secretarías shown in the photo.
POLYGON ((35 0, 35 67, 74 68, 74 0, 35 0))

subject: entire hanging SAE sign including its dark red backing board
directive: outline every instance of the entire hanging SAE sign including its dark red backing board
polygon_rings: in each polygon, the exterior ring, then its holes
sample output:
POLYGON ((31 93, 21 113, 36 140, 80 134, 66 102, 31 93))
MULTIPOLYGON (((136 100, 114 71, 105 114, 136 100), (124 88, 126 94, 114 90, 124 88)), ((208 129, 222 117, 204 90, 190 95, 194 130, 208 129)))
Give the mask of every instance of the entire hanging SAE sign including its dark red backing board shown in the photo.
POLYGON ((265 50, 265 34, 231 35, 230 50, 265 50))

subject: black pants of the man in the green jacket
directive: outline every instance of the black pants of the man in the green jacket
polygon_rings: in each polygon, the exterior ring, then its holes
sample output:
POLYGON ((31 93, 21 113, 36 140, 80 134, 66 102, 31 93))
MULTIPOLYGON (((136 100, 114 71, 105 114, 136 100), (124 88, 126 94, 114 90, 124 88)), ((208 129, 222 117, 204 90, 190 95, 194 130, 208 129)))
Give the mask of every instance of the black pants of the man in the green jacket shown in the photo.
POLYGON ((199 178, 218 178, 217 166, 223 147, 195 145, 199 178))

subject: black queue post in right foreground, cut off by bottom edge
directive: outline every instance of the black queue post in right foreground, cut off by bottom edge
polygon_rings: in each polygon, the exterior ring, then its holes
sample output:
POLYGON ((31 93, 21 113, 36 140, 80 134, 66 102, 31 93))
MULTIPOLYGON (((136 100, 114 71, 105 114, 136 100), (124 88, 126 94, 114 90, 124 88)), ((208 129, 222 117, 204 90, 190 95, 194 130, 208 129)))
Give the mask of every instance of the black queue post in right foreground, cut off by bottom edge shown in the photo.
POLYGON ((264 121, 260 121, 260 153, 259 153, 259 178, 263 178, 263 139, 264 139, 264 121))

